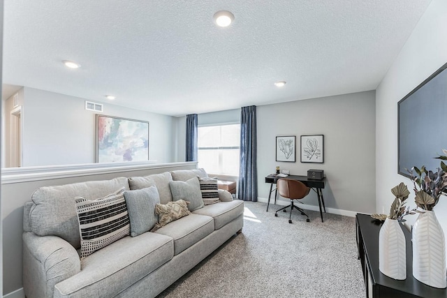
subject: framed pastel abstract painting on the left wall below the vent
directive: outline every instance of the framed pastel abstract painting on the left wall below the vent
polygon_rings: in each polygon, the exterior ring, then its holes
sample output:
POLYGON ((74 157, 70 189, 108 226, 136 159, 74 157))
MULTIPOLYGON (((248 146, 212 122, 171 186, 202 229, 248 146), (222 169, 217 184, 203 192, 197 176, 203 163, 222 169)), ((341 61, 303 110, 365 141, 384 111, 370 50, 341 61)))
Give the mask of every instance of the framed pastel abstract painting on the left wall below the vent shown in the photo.
POLYGON ((149 122, 96 114, 96 163, 149 160, 149 122))

